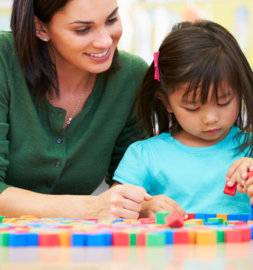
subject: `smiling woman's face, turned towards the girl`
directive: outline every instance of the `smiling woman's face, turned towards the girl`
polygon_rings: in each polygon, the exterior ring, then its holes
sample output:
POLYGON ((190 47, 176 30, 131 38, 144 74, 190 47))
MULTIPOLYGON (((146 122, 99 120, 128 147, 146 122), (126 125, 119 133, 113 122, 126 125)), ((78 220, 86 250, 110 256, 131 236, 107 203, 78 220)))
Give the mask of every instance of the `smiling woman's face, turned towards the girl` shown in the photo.
POLYGON ((109 69, 122 34, 116 0, 70 0, 46 28, 57 68, 70 72, 109 69))

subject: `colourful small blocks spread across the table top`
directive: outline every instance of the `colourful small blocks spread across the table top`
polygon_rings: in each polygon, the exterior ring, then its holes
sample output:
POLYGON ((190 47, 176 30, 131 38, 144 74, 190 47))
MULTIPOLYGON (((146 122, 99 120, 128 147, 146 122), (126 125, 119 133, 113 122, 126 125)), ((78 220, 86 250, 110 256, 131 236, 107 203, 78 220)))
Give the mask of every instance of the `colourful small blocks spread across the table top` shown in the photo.
POLYGON ((157 212, 156 219, 0 217, 0 246, 163 246, 250 241, 249 214, 157 212))

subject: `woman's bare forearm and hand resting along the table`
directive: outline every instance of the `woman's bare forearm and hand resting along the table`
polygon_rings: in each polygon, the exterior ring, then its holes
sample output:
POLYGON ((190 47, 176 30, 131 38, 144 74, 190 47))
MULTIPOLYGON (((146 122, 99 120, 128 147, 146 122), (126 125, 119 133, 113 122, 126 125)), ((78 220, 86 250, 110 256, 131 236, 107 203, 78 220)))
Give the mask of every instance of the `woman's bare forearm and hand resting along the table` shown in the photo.
POLYGON ((138 218, 141 202, 152 197, 130 184, 113 187, 99 196, 45 195, 10 187, 0 195, 0 215, 64 218, 138 218))

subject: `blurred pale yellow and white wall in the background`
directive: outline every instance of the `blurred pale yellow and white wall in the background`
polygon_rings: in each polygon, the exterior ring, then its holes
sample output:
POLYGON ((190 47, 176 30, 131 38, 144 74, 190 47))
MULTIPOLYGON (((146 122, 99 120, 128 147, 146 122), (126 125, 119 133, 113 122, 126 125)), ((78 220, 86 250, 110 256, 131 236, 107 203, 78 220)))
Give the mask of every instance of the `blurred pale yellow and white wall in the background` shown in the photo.
MULTIPOLYGON (((152 62, 165 34, 181 21, 204 18, 226 27, 253 67, 253 0, 117 0, 123 24, 119 49, 152 62)), ((11 0, 0 0, 0 30, 10 30, 11 0)), ((102 184, 95 195, 107 189, 102 184)))

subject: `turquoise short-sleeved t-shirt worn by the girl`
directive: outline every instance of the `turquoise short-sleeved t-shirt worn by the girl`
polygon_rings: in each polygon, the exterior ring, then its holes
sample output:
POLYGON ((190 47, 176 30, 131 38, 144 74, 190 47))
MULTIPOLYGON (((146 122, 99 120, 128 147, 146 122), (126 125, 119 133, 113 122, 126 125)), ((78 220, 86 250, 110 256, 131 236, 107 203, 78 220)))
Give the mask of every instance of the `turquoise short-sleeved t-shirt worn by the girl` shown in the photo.
POLYGON ((125 152, 113 179, 144 187, 152 196, 167 195, 187 213, 249 213, 247 194, 223 193, 230 165, 244 156, 234 157, 238 132, 232 126, 221 142, 201 148, 185 146, 170 133, 136 142, 125 152))

